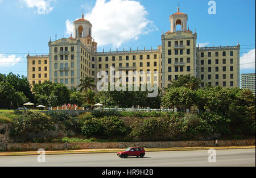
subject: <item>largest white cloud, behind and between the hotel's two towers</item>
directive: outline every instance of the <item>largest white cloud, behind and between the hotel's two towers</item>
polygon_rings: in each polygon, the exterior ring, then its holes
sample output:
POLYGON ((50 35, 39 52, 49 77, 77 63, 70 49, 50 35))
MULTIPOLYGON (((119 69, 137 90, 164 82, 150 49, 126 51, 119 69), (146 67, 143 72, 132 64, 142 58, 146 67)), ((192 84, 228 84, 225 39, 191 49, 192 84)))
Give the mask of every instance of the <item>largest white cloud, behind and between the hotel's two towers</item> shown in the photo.
MULTIPOLYGON (((130 40, 138 40, 139 35, 158 30, 146 18, 147 14, 144 6, 137 1, 97 0, 84 18, 92 23, 92 37, 98 45, 110 44, 119 47, 130 40)), ((71 21, 66 20, 68 34, 73 32, 71 25, 71 21)))

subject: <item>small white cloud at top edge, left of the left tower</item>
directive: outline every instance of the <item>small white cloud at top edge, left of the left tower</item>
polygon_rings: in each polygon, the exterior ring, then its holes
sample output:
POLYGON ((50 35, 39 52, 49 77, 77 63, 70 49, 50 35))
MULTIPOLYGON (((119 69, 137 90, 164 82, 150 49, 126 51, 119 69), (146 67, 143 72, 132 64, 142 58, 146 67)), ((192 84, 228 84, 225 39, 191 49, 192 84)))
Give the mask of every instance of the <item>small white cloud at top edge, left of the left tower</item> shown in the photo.
MULTIPOLYGON (((1 0, 0 0, 1 1, 1 0)), ((19 0, 20 2, 26 3, 27 7, 38 9, 38 14, 51 13, 54 7, 50 6, 52 0, 19 0)))

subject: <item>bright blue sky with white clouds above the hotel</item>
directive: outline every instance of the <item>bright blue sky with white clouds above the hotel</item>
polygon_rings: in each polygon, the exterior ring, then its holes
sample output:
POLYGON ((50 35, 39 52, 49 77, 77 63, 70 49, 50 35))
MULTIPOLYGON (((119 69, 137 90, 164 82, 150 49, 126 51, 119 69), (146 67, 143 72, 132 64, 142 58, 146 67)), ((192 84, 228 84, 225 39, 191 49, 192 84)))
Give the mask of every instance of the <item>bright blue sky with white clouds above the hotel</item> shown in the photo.
MULTIPOLYGON (((73 20, 92 23, 98 51, 157 48, 162 31, 170 30, 169 15, 188 14, 197 43, 208 46, 241 45, 241 64, 255 62, 255 1, 215 1, 208 14, 204 0, 0 0, 0 73, 27 76, 26 55, 48 53, 48 42, 70 35, 73 20), (94 23, 93 23, 94 22, 94 23), (100 43, 99 43, 100 42, 100 43), (102 45, 103 44, 103 45, 102 45), (7 63, 5 63, 7 62, 7 63)), ((255 63, 241 65, 241 73, 255 72, 255 63)))

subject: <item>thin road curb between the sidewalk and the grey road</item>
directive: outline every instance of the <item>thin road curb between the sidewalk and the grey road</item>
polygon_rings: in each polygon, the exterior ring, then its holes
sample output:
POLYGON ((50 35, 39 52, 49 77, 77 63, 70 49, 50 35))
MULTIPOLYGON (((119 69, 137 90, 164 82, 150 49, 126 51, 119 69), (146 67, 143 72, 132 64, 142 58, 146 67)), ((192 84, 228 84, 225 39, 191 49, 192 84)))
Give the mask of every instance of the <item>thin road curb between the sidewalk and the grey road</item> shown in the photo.
MULTIPOLYGON (((212 147, 210 147, 212 148, 212 147)), ((209 150, 210 148, 198 148, 198 149, 188 149, 188 150, 152 150, 152 151, 146 151, 146 152, 162 152, 162 151, 198 151, 198 150, 209 150)), ((213 147, 214 148, 214 147, 213 147)), ((253 149, 255 148, 248 148, 248 147, 241 147, 241 148, 217 148, 216 150, 238 150, 238 149, 253 149)), ((110 152, 66 152, 66 153, 47 153, 46 155, 75 155, 75 154, 107 154, 107 153, 117 153, 116 151, 110 151, 110 152)), ((0 155, 1 156, 37 156, 40 154, 24 154, 24 155, 0 155)))

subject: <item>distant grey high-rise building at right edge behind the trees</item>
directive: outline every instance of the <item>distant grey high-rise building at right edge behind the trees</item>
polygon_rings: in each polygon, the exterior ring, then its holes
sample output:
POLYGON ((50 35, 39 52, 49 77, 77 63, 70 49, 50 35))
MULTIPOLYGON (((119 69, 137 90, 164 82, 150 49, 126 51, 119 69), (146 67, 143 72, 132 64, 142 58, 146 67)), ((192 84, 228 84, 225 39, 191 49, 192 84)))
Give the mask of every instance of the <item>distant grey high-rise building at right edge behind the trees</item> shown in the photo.
POLYGON ((255 96, 255 73, 241 74, 241 88, 251 90, 255 96))

